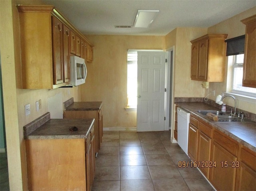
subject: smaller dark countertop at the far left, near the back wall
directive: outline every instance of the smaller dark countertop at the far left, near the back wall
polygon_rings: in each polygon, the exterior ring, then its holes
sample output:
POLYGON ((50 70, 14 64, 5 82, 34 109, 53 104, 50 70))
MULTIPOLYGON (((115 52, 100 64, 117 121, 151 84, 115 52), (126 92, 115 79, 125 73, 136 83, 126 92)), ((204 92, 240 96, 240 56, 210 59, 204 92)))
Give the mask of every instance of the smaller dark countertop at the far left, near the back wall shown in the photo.
POLYGON ((73 98, 70 98, 64 102, 64 108, 66 111, 93 111, 100 110, 102 108, 101 101, 92 102, 74 102, 73 98))

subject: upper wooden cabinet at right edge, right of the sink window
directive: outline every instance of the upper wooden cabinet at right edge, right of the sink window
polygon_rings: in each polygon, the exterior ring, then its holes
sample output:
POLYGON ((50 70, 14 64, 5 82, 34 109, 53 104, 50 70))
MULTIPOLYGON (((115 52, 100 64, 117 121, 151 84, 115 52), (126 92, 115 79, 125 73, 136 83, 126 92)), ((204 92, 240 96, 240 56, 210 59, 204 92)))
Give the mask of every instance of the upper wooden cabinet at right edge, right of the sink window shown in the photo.
POLYGON ((241 22, 246 24, 243 86, 256 88, 256 15, 241 22))

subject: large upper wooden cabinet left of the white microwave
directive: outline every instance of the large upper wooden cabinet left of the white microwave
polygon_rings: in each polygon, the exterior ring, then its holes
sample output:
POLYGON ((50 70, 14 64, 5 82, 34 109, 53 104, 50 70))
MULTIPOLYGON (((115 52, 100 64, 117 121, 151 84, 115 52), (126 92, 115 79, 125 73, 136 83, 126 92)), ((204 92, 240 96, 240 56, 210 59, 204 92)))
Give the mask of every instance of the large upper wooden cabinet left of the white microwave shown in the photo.
POLYGON ((17 6, 17 9, 22 89, 54 89, 68 85, 70 53, 75 51, 73 54, 80 56, 81 39, 91 47, 92 44, 54 6, 17 6))

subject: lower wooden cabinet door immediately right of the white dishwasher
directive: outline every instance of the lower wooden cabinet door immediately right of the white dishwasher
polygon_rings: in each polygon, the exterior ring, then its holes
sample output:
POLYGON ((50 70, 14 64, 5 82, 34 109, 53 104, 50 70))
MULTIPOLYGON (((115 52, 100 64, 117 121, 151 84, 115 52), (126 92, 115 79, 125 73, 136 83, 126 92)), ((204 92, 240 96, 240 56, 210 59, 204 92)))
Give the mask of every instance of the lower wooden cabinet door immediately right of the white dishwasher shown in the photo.
POLYGON ((188 129, 188 156, 192 161, 197 160, 197 140, 198 140, 198 128, 189 124, 188 129))

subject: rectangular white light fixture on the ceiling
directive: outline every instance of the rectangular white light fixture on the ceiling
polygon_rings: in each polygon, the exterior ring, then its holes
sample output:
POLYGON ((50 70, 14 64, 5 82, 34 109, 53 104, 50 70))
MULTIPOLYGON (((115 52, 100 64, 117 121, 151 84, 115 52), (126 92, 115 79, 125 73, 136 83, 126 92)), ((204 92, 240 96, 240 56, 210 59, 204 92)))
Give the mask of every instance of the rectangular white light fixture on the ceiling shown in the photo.
POLYGON ((148 28, 158 12, 159 10, 138 10, 133 26, 148 28))

